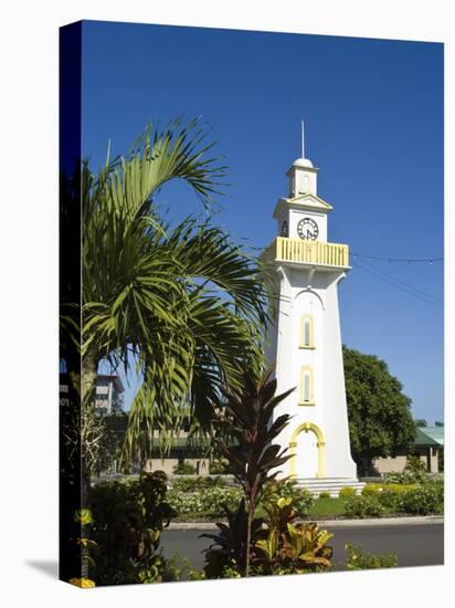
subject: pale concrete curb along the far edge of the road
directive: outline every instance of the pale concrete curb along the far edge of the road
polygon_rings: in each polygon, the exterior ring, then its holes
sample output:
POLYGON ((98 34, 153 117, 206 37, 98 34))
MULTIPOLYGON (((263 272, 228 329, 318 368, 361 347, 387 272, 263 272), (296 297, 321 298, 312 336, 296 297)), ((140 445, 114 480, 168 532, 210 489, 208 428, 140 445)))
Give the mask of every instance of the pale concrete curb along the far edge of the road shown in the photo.
MULTIPOLYGON (((441 515, 378 517, 374 520, 314 520, 319 527, 379 527, 443 524, 441 515)), ((166 530, 218 530, 213 522, 172 522, 166 530)))

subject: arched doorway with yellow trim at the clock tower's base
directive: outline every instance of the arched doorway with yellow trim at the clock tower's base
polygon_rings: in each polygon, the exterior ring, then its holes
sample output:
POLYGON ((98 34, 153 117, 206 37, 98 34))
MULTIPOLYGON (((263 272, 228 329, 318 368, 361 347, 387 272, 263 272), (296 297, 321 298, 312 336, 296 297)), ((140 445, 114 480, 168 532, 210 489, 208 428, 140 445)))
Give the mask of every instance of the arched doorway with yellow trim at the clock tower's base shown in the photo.
POLYGON ((325 478, 325 447, 322 431, 313 422, 304 422, 292 434, 289 442, 290 476, 292 478, 325 478), (300 433, 308 433, 304 442, 299 442, 300 433), (303 457, 304 460, 299 458, 303 457), (305 459, 305 454, 307 458, 305 459))

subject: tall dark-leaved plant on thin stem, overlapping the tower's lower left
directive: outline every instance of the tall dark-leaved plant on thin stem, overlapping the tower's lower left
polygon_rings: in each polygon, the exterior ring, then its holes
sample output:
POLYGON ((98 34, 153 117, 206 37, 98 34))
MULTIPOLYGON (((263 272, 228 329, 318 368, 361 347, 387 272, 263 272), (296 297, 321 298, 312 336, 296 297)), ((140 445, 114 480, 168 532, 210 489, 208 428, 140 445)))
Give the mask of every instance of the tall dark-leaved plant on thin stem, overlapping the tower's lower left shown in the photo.
MULTIPOLYGON (((254 371, 243 370, 243 391, 224 390, 222 412, 213 419, 215 444, 229 460, 231 470, 241 484, 246 506, 246 546, 251 546, 251 526, 266 480, 279 473, 279 467, 289 458, 287 448, 273 443, 289 422, 289 415, 274 419, 274 410, 290 392, 276 392, 272 369, 260 378, 254 371)), ((248 576, 250 552, 245 553, 244 575, 248 576)))

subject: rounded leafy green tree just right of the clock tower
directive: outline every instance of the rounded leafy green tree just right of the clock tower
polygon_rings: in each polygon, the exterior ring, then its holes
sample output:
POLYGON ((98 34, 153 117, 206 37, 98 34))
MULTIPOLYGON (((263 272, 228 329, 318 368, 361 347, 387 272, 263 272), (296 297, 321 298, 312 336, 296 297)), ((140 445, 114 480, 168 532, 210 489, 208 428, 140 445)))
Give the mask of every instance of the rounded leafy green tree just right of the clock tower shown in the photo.
POLYGON ((352 458, 359 474, 372 472, 372 460, 412 450, 415 422, 411 399, 385 361, 343 346, 346 396, 352 458))

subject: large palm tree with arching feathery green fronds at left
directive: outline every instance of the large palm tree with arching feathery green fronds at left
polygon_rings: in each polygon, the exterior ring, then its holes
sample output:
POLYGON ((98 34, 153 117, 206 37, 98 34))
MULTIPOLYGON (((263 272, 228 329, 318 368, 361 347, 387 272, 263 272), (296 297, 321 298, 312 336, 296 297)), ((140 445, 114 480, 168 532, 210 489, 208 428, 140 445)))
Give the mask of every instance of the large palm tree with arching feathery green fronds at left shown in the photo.
MULTIPOLYGON (((208 222, 189 218, 171 230, 158 216, 156 196, 176 179, 210 207, 225 167, 208 158, 205 135, 199 120, 148 127, 127 158, 97 176, 82 168, 83 410, 93 409, 102 359, 125 373, 136 366, 142 382, 127 457, 144 428, 169 439, 191 416, 207 430, 222 387, 240 387, 241 366, 263 363, 265 293, 254 258, 208 222)), ((83 465, 87 484, 89 458, 83 465)))

